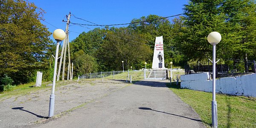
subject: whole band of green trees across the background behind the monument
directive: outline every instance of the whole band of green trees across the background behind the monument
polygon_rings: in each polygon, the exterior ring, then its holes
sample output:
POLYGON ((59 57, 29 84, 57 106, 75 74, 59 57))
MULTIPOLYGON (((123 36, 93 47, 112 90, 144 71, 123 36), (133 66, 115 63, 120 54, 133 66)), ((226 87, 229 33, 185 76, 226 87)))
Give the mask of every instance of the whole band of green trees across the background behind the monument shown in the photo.
MULTIPOLYGON (((55 44, 40 20, 44 10, 24 0, 0 0, 0 78, 12 78, 15 84, 35 81, 36 71, 44 72, 44 81, 52 80, 55 44), (6 76, 7 75, 7 76, 6 76)), ((222 36, 217 58, 256 59, 255 0, 189 0, 184 14, 165 18, 148 15, 131 19, 127 27, 103 26, 82 32, 70 42, 74 76, 100 71, 141 69, 152 63, 156 36, 163 36, 165 67, 206 61, 212 57, 207 41, 210 32, 222 36)), ((3 83, 0 83, 3 84, 3 83)))

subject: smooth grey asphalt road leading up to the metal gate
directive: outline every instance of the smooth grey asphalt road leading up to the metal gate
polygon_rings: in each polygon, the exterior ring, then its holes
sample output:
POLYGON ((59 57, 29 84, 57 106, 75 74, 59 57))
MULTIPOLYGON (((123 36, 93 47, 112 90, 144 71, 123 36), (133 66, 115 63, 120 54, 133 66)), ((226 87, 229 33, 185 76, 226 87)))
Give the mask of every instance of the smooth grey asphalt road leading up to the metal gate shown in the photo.
POLYGON ((26 125, 38 128, 205 128, 168 81, 140 81, 96 99, 60 118, 26 125))

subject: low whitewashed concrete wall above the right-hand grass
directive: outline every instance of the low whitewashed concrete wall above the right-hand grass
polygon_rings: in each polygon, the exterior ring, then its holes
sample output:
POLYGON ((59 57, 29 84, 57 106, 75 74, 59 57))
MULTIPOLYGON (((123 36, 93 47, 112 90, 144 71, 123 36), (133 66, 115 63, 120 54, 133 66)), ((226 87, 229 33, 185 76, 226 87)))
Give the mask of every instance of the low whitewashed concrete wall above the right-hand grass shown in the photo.
MULTIPOLYGON (((182 75, 180 79, 181 88, 212 92, 209 73, 182 75)), ((217 79, 216 93, 256 97, 256 74, 217 79)))

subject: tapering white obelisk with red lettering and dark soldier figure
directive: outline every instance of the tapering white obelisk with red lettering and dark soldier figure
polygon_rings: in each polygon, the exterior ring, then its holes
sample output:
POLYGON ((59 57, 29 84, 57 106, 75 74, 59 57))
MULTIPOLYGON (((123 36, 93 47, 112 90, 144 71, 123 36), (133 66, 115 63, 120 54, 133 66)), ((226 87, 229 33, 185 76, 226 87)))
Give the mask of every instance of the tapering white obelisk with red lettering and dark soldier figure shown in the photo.
POLYGON ((152 69, 165 69, 163 54, 163 36, 156 37, 152 69))

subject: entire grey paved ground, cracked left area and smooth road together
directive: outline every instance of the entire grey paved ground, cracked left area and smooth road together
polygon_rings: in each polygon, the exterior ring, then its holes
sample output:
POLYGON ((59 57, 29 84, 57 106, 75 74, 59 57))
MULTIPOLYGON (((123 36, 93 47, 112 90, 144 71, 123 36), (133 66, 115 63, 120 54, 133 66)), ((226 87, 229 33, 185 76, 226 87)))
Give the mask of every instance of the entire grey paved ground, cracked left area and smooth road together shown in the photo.
POLYGON ((204 128, 198 114, 172 93, 166 82, 72 81, 56 88, 55 115, 87 104, 52 119, 44 119, 48 116, 50 89, 0 99, 0 127, 204 128))

